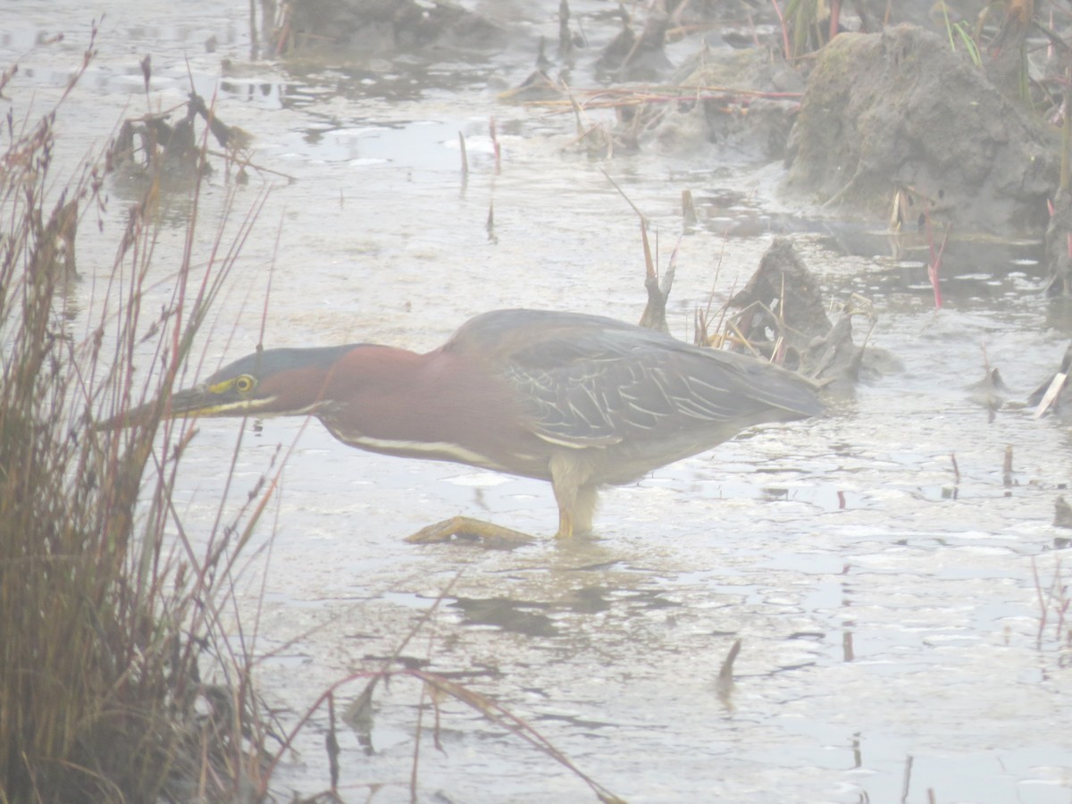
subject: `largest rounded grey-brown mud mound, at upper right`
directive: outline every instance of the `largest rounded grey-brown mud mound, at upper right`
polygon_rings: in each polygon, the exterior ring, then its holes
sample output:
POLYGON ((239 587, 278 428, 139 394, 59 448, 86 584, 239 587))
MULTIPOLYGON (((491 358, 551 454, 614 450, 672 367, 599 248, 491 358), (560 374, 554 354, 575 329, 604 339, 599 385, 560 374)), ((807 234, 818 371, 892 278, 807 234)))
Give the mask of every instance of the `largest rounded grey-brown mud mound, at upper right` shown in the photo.
POLYGON ((962 230, 1046 225, 1057 135, 937 34, 843 33, 820 53, 790 134, 783 191, 888 217, 895 192, 962 230))

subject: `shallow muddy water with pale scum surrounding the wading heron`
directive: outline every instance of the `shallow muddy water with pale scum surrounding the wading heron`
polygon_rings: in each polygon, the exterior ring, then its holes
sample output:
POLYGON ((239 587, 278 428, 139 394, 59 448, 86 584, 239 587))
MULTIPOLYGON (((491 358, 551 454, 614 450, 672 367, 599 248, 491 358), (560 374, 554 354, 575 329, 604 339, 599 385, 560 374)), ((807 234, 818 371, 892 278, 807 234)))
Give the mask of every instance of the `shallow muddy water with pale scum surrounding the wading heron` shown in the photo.
MULTIPOLYGON (((1051 523, 1072 470, 1068 429, 1011 406, 992 421, 967 389, 988 360, 1023 400, 1063 352, 1069 327, 1039 294, 1033 244, 952 243, 946 308, 935 312, 925 252, 893 258, 882 235, 779 208, 768 195, 776 166, 746 173, 702 146, 593 162, 572 148, 568 117, 496 103, 501 86, 526 74, 527 51, 416 75, 287 72, 250 61, 243 4, 114 5, 99 57, 60 115, 60 159, 73 168, 123 115, 182 102, 189 57, 198 90, 218 91, 221 117, 255 135, 256 161, 296 179, 265 179, 256 235, 202 339, 203 373, 251 351, 262 326, 271 346, 421 349, 501 307, 637 319, 637 219, 601 169, 657 228, 664 265, 683 232, 681 191, 697 198, 701 224, 680 245, 676 334, 690 336, 712 291, 717 306, 750 274, 773 227, 793 233, 832 297, 874 301, 872 342, 899 362, 833 399, 823 419, 750 433, 606 493, 595 539, 512 552, 401 539, 462 511, 550 534, 556 510, 544 483, 366 455, 316 422, 251 422, 230 510, 278 445, 291 450, 272 527, 239 581, 264 694, 284 724, 332 682, 376 667, 372 657, 390 654, 452 584, 404 655, 464 673, 630 801, 1072 798, 1072 655, 1052 609, 1040 632, 1036 581, 1048 589, 1072 574, 1051 549, 1063 535, 1051 523), (148 102, 137 66, 146 53, 148 102), (730 193, 746 200, 726 208, 730 193), (728 222, 741 234, 724 237, 728 222), (738 639, 727 695, 717 676, 738 639)), ((556 5, 525 6, 531 39, 553 35, 556 5)), ((613 32, 606 5, 575 9, 591 15, 590 35, 613 32)), ((5 10, 0 49, 20 72, 3 103, 16 117, 62 91, 88 41, 84 15, 65 2, 5 10), (62 43, 35 44, 59 31, 62 43)), ((262 189, 257 178, 240 189, 239 209, 262 189)), ((116 182, 105 236, 79 243, 87 310, 133 192, 116 182)), ((205 191, 209 221, 228 192, 218 174, 205 191)), ((154 269, 161 299, 181 248, 182 203, 173 205, 154 269)), ((206 258, 213 233, 206 223, 206 258)), ((211 522, 239 429, 202 422, 180 480, 188 530, 211 522)), ((375 801, 408 800, 419 703, 405 682, 377 695, 371 754, 357 734, 341 735, 346 801, 373 789, 375 801)), ((301 733, 281 793, 327 786, 326 725, 318 712, 301 733)), ((461 704, 444 702, 440 740, 442 753, 427 732, 421 743, 423 801, 591 799, 574 774, 461 704)))

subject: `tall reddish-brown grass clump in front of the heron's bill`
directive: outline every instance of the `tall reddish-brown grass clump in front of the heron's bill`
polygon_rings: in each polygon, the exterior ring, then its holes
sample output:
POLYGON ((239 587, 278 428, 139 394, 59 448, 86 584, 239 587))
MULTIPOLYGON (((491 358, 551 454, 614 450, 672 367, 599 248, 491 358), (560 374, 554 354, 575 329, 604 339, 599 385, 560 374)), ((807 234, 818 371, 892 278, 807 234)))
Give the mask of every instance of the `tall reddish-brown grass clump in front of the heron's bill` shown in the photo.
POLYGON ((146 315, 154 184, 118 238, 99 312, 75 325, 87 291, 74 242, 104 207, 103 160, 56 181, 56 110, 3 124, 0 803, 256 799, 265 729, 220 624, 242 532, 219 527, 207 548, 187 538, 170 505, 181 447, 154 448, 159 417, 94 426, 166 397, 249 220, 207 267, 192 267, 188 236, 170 303, 146 315), (139 381, 150 361, 159 378, 139 381))

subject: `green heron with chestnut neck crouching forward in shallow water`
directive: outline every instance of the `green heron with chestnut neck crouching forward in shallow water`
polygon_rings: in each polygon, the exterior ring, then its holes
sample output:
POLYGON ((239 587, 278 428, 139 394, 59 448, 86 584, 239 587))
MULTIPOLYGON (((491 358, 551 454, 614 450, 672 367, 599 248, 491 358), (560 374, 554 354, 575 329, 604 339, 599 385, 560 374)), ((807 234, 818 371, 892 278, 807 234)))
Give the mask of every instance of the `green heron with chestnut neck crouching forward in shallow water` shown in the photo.
MULTIPOLYGON (((366 343, 276 348, 174 393, 166 416, 315 416, 352 447, 549 480, 560 537, 606 485, 741 430, 822 412, 804 377, 611 318, 500 310, 420 355, 366 343)), ((487 523, 455 518, 429 541, 487 523)))

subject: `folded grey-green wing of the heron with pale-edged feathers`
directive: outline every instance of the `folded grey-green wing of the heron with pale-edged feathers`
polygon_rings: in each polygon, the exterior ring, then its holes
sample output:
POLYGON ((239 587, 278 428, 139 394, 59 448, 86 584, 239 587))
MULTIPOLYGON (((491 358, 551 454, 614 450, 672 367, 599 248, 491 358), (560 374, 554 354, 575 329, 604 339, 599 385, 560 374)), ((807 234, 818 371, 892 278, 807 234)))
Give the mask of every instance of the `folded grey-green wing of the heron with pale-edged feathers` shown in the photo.
MULTIPOLYGON (((522 311, 511 311, 519 313, 522 311)), ((535 314, 535 313, 533 313, 535 314)), ((821 412, 803 377, 609 318, 541 313, 501 343, 507 382, 545 441, 577 448, 821 412), (557 326, 548 326, 557 325, 557 326)))

